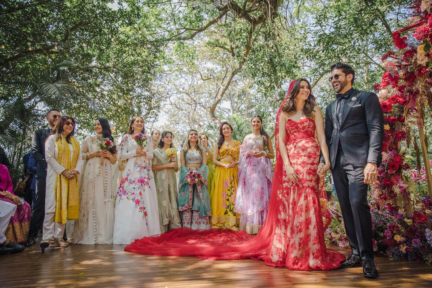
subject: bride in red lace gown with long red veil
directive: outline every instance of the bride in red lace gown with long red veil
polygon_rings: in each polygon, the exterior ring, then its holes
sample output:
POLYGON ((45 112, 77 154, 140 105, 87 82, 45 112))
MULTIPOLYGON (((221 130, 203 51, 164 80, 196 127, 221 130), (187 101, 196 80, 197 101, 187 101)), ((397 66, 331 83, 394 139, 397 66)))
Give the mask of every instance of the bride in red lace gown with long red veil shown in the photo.
POLYGON ((317 168, 320 146, 324 158, 328 158, 328 150, 324 120, 314 104, 310 87, 306 79, 292 81, 277 113, 276 166, 270 205, 256 236, 229 229, 178 228, 136 240, 125 250, 207 260, 250 258, 291 270, 338 268, 345 257, 327 249, 324 242, 317 168), (315 128, 321 145, 315 140, 315 128), (285 145, 279 145, 281 141, 285 145))

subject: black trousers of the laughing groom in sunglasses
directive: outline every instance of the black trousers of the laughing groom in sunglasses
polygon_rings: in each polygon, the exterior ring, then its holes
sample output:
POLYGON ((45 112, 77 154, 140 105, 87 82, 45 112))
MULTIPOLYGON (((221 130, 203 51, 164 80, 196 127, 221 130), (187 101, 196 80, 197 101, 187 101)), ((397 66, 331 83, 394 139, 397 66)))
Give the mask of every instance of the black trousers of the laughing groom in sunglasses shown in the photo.
POLYGON ((364 169, 364 166, 349 164, 340 149, 331 174, 353 254, 360 256, 362 260, 373 260, 372 218, 367 200, 368 184, 363 183, 364 169))

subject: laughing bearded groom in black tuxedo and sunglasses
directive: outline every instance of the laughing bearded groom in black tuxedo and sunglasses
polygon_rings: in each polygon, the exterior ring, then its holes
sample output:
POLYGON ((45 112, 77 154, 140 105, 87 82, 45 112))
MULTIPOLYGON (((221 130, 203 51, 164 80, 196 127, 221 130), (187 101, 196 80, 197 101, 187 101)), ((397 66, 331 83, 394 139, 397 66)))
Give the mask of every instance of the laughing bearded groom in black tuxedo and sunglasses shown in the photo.
MULTIPOLYGON (((378 277, 372 254, 372 218, 368 185, 377 180, 384 118, 377 95, 353 89, 354 70, 345 63, 331 66, 329 81, 336 100, 326 108, 325 136, 330 169, 352 253, 341 267, 363 266, 365 277, 378 277)), ((318 174, 325 174, 321 156, 318 174)), ((328 168, 327 168, 328 169, 328 168)))

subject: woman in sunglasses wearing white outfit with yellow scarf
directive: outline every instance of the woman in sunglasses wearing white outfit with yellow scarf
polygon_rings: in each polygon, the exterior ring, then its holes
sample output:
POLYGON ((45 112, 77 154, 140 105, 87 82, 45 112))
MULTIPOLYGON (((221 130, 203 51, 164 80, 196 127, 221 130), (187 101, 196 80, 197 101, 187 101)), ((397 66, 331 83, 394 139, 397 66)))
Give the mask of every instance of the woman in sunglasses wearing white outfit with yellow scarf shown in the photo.
POLYGON ((63 240, 67 220, 79 218, 78 175, 81 172, 79 143, 73 135, 75 120, 62 116, 57 120, 45 142, 48 163, 45 193, 45 218, 41 249, 45 250, 54 238, 54 245, 67 247, 63 240))

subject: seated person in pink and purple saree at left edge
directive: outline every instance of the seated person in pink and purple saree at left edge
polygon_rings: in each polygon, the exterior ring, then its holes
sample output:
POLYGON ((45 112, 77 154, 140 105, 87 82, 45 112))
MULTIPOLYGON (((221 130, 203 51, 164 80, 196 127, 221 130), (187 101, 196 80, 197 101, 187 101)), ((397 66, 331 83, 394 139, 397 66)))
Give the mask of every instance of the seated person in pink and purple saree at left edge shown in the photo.
POLYGON ((10 218, 4 235, 7 240, 15 243, 23 243, 29 239, 30 219, 32 209, 30 204, 23 201, 13 193, 13 184, 9 171, 5 165, 0 164, 0 201, 16 205, 15 214, 10 218))

